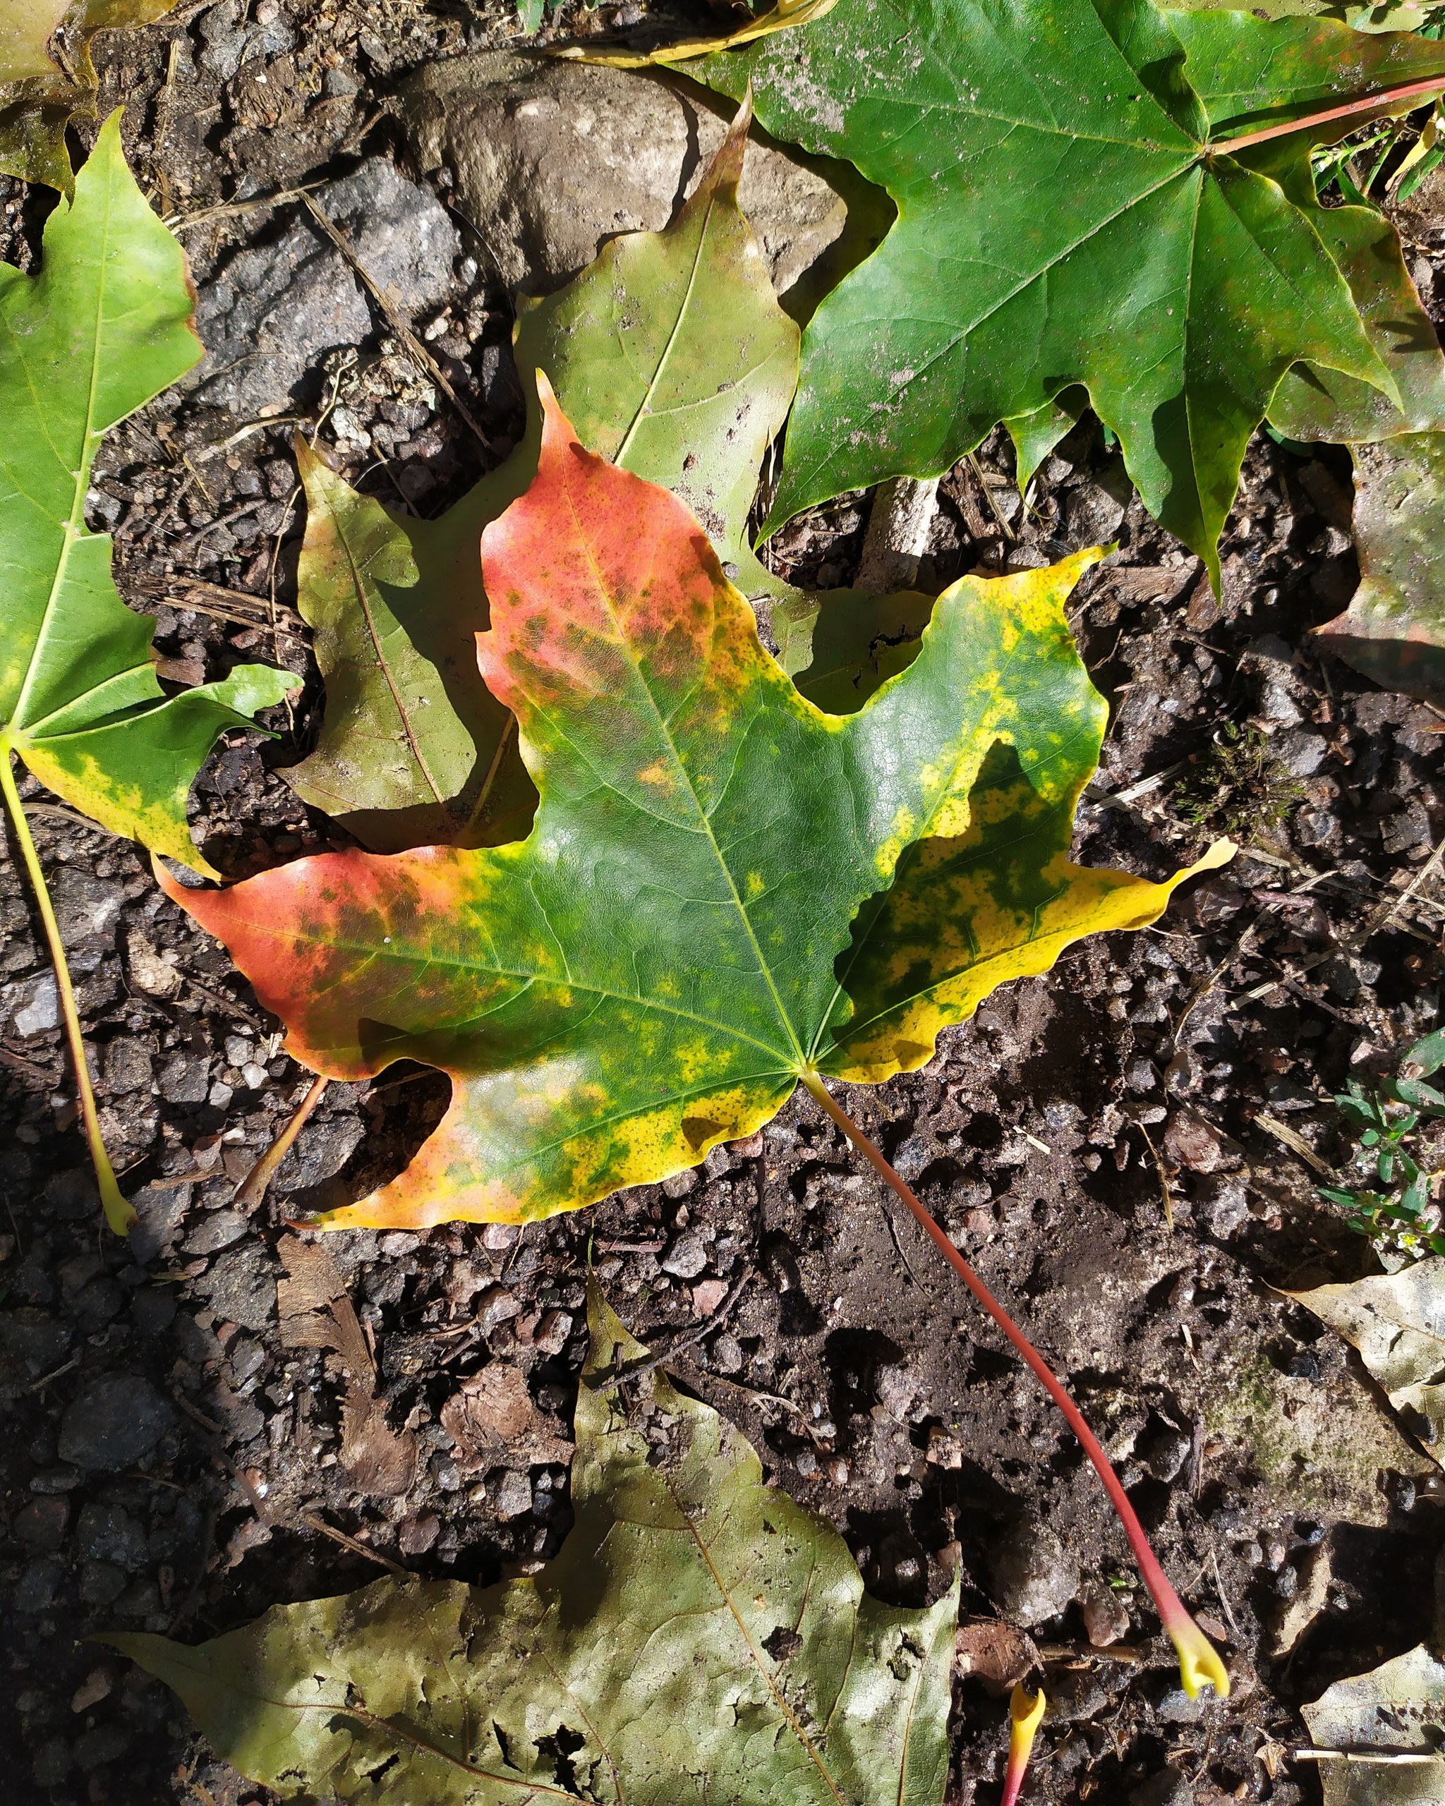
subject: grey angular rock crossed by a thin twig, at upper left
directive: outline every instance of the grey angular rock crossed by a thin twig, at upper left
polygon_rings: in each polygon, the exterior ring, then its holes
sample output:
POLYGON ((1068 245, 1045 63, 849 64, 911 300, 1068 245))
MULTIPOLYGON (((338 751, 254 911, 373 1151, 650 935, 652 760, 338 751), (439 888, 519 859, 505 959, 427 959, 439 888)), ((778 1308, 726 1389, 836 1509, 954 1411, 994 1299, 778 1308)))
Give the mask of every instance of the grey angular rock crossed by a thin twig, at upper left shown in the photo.
MULTIPOLYGON (((327 182, 316 202, 403 314, 448 296, 457 228, 385 157, 327 182)), ((300 215, 275 244, 238 251, 202 285, 197 330, 208 347, 197 399, 249 417, 287 401, 325 352, 370 338, 374 307, 341 253, 300 215)))

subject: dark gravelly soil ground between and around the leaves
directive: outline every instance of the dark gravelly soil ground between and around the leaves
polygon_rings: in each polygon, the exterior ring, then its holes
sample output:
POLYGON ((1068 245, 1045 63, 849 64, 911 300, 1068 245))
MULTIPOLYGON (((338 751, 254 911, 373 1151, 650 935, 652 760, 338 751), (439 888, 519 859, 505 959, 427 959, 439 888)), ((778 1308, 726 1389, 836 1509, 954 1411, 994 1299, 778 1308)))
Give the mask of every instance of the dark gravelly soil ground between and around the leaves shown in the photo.
MULTIPOLYGON (((639 9, 620 13, 627 23, 639 9)), ((612 16, 564 9, 556 29, 612 16)), ((105 40, 103 110, 126 103, 132 163, 157 208, 181 215, 204 291, 238 251, 275 246, 298 206, 244 202, 361 159, 406 168, 387 112, 399 79, 515 36, 502 4, 182 4, 105 40)), ((0 255, 31 265, 51 200, 0 181, 0 255)), ((459 229, 452 289, 414 323, 443 321, 428 341, 495 462, 520 424, 509 302, 459 229)), ((1431 256, 1443 273, 1445 256, 1429 222, 1411 229, 1432 305, 1431 256)), ((311 372, 291 415, 238 421, 172 392, 112 435, 94 479, 92 526, 116 536, 126 600, 155 614, 168 675, 275 659, 307 677, 293 713, 275 713, 276 739, 229 735, 199 780, 199 838, 228 876, 345 838, 276 777, 311 744, 322 701, 293 612, 294 417, 314 421, 334 385, 359 435, 341 448, 352 480, 421 513, 488 461, 444 401, 417 399, 385 321, 358 350, 359 363, 311 372)), ((329 1239, 390 1423, 421 1452, 408 1490, 356 1492, 338 1463, 336 1362, 282 1345, 276 1244, 285 1219, 399 1170, 446 1082, 399 1067, 332 1085, 266 1206, 237 1210, 237 1181, 309 1075, 135 849, 27 782, 143 1228, 123 1244, 101 1226, 43 943, 5 863, 0 1759, 16 1806, 271 1799, 215 1761, 159 1683, 87 1642, 94 1631, 200 1638, 383 1566, 491 1582, 545 1560, 567 1535, 567 1466, 526 1450, 511 1466, 506 1450, 461 1461, 441 1418, 504 1358, 565 1434, 589 1243, 629 1327, 656 1347, 750 1275, 679 1376, 840 1528, 880 1597, 918 1604, 961 1566, 952 1801, 997 1801, 1001 1687, 1035 1652, 1055 1703, 1028 1792, 1040 1806, 1319 1799, 1315 1770, 1288 1759, 1308 1741, 1299 1705, 1429 1631, 1445 1519, 1432 1463, 1355 1356, 1275 1289, 1353 1279, 1373 1257, 1257 1118, 1337 1163, 1347 1149, 1329 1094, 1438 1020, 1440 881, 1358 943, 1445 833, 1441 719, 1311 647, 1356 576, 1344 453, 1257 439, 1221 601, 1131 498, 1095 423, 1028 502, 990 441, 943 482, 923 582, 1118 538, 1075 603, 1113 708, 1075 858, 1158 878, 1216 833, 1241 852, 1158 928, 1087 941, 1048 977, 1006 986, 923 1073, 849 1102, 1084 1403, 1165 1568, 1226 1649, 1232 1698, 1183 1698, 1077 1443, 807 1098, 697 1174, 522 1235, 329 1239)), ((777 567, 847 582, 865 518, 854 497, 789 526, 777 567)))

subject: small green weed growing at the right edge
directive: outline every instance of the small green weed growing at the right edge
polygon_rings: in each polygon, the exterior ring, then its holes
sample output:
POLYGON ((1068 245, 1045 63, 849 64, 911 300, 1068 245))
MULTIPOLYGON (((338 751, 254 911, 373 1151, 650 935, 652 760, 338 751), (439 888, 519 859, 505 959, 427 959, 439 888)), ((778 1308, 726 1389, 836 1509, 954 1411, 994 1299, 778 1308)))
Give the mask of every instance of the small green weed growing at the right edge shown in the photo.
POLYGON ((1349 1089, 1335 1098, 1358 1132, 1349 1165, 1369 1172, 1382 1190, 1320 1187, 1320 1197, 1340 1205, 1353 1230, 1411 1261, 1445 1253, 1440 1206, 1431 1203, 1436 1174, 1422 1168, 1407 1149, 1423 1120, 1445 1122, 1445 1093, 1425 1084, 1441 1066, 1445 1029, 1436 1029, 1405 1051, 1398 1078, 1382 1078, 1369 1091, 1351 1078, 1349 1089))

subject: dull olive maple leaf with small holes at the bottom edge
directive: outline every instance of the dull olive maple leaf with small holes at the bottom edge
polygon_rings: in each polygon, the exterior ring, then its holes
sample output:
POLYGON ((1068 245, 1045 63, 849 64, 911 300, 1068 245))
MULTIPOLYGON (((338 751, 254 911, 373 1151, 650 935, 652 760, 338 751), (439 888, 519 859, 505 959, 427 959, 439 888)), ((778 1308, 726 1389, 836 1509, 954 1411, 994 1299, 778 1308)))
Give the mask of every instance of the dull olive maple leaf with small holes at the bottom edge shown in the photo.
POLYGON ((251 1781, 372 1806, 939 1806, 957 1584, 900 1611, 592 1293, 560 1555, 378 1580, 199 1649, 112 1636, 251 1781), (611 1382, 611 1383, 609 1383, 611 1382))

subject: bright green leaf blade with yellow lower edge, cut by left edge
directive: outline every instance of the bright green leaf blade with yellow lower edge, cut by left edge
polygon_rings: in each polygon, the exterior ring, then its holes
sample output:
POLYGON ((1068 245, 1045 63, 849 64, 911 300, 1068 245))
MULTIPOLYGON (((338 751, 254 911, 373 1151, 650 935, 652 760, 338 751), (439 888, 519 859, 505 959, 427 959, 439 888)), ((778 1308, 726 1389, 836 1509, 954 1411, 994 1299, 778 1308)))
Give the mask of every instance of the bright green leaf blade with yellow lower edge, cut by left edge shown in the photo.
POLYGON ((298 679, 246 665, 166 699, 154 623, 121 601, 110 538, 83 517, 101 435, 200 358, 191 307, 116 114, 45 224, 40 275, 0 264, 0 757, 20 753, 105 827, 215 876, 186 827, 191 780, 222 728, 298 679))

